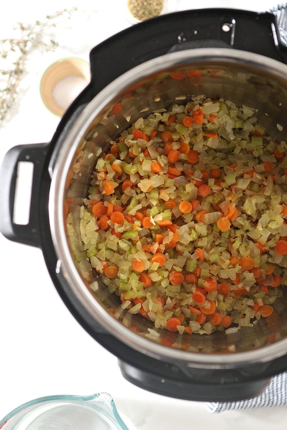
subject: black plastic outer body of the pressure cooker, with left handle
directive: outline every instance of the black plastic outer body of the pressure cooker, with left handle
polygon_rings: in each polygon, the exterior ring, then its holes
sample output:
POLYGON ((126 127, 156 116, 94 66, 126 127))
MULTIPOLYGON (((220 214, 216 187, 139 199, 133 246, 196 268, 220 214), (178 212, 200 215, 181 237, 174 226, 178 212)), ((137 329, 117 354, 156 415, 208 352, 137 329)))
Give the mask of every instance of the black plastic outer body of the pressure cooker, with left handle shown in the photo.
POLYGON ((21 145, 6 155, 1 169, 1 231, 10 240, 42 249, 59 295, 83 328, 119 359, 123 376, 165 396, 199 401, 236 401, 262 393, 270 378, 287 369, 287 356, 234 369, 189 367, 164 362, 127 346, 106 332, 72 293, 57 261, 49 229, 49 190, 53 167, 65 136, 84 107, 115 78, 151 58, 181 49, 227 47, 286 62, 272 14, 206 9, 163 15, 135 25, 92 49, 91 82, 71 104, 49 144, 21 145), (25 226, 12 222, 17 165, 34 163, 31 213, 25 226))

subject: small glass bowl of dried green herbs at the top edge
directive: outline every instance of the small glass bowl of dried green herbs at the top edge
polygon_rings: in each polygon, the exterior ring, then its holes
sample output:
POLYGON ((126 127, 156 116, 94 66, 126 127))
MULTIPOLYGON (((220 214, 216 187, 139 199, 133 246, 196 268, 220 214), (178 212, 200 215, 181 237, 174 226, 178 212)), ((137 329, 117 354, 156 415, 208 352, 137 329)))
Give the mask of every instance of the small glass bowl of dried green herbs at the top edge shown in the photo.
POLYGON ((137 24, 149 18, 175 12, 177 0, 123 0, 125 17, 131 24, 137 24))

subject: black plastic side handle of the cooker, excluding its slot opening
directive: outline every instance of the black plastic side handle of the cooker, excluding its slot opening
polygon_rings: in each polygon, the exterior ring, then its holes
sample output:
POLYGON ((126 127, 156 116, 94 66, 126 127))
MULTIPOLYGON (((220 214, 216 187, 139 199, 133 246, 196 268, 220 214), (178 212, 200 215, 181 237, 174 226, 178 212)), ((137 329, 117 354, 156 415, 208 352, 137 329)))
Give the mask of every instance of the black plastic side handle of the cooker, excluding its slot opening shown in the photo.
POLYGON ((46 160, 48 144, 27 144, 11 148, 0 169, 0 231, 9 240, 40 247, 39 241, 39 191, 46 160), (21 163, 32 163, 30 208, 27 224, 15 223, 15 194, 21 163))

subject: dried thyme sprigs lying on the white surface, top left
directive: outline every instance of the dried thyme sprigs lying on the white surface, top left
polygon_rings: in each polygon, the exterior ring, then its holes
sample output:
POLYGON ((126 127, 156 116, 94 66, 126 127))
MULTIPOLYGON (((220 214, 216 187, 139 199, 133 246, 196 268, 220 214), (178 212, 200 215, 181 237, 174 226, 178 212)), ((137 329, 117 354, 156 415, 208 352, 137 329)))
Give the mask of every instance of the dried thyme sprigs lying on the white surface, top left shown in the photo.
POLYGON ((46 51, 54 51, 58 43, 52 39, 48 43, 43 41, 43 31, 70 19, 75 10, 77 8, 73 7, 57 11, 27 27, 18 22, 14 30, 20 31, 20 37, 0 40, 0 123, 15 102, 27 55, 36 46, 42 46, 46 51))

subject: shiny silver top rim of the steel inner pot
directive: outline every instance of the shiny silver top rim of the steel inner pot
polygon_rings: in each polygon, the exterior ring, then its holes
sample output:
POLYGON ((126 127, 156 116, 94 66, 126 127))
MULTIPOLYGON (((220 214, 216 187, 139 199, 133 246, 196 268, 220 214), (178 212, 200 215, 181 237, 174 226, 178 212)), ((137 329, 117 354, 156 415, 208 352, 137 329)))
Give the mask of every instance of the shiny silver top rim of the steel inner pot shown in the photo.
POLYGON ((108 332, 129 347, 156 359, 163 359, 167 362, 177 360, 177 362, 189 363, 194 367, 209 369, 235 368, 250 363, 268 362, 287 353, 287 338, 266 347, 245 352, 202 354, 165 347, 137 335, 118 323, 89 292, 74 265, 68 246, 65 225, 62 221, 64 219, 65 183, 75 151, 77 151, 87 126, 117 94, 131 84, 155 72, 190 62, 193 64, 200 63, 201 65, 204 65, 204 63, 208 65, 212 63, 223 63, 229 66, 244 65, 247 69, 255 68, 271 75, 273 78, 280 77, 281 80, 287 81, 287 67, 285 64, 263 55, 225 48, 189 49, 168 53, 146 61, 118 77, 99 92, 77 117, 62 143, 54 169, 51 167, 53 174, 49 193, 49 221, 52 241, 57 258, 61 262, 62 273, 74 295, 99 324, 105 319, 105 328, 108 332))

